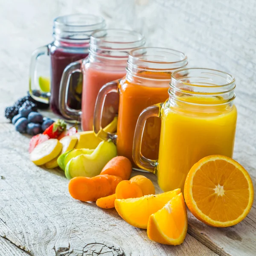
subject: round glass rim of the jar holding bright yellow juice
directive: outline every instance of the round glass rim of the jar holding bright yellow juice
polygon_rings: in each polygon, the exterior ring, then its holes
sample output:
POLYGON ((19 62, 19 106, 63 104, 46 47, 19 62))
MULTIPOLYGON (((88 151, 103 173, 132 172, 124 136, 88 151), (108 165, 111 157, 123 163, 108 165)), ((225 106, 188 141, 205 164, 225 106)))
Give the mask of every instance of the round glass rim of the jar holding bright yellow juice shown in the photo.
MULTIPOLYGON (((222 76, 223 77, 223 76, 222 76)), ((189 77, 187 77, 189 78, 189 77)), ((200 78, 198 76, 198 78, 200 78)), ((223 77, 224 78, 224 77, 223 77)), ((179 82, 179 83, 182 83, 182 84, 186 84, 186 85, 189 85, 189 86, 193 86, 193 87, 210 87, 210 88, 217 88, 217 87, 226 87, 226 86, 229 86, 231 84, 234 84, 236 82, 236 79, 234 78, 234 76, 230 75, 229 73, 225 72, 225 71, 221 71, 221 70, 215 70, 215 69, 210 69, 210 68, 201 68, 201 67, 191 67, 191 68, 183 68, 183 69, 179 69, 179 70, 176 70, 172 73, 171 75, 171 81, 170 81, 170 85, 172 85, 172 79, 175 80, 176 82, 179 82), (214 73, 210 73, 210 71, 213 71, 215 73, 219 73, 219 74, 224 74, 226 75, 227 77, 230 77, 231 81, 228 82, 228 83, 224 83, 224 84, 221 84, 221 85, 200 85, 200 84, 190 84, 188 82, 184 82, 184 81, 181 81, 180 79, 184 78, 184 77, 179 77, 179 78, 176 78, 175 75, 177 73, 180 73, 180 72, 184 72, 184 71, 189 71, 189 70, 205 70, 206 74, 211 74, 213 76, 216 76, 216 74, 214 73), (208 71, 208 72, 207 72, 208 71)))

